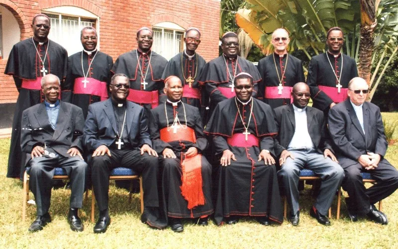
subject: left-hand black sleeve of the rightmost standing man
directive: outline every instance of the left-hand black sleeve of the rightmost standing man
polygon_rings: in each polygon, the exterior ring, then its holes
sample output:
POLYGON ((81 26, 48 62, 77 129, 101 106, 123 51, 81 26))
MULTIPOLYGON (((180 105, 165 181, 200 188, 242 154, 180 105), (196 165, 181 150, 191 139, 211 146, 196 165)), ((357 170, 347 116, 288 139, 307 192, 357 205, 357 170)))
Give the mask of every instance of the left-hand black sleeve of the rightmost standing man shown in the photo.
POLYGON ((316 82, 318 78, 318 63, 319 62, 314 59, 310 60, 308 65, 307 84, 309 86, 313 103, 316 103, 321 111, 325 111, 333 101, 323 91, 319 90, 319 82, 316 82))

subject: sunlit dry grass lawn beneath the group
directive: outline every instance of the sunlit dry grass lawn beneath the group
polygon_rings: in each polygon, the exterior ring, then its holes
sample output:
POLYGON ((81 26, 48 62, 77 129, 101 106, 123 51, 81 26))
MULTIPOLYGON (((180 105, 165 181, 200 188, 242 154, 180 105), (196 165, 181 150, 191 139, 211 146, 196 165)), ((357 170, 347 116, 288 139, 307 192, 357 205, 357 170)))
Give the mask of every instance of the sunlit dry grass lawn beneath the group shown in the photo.
MULTIPOLYGON (((398 114, 383 116, 398 119, 398 114)), ((107 232, 100 235, 93 233, 94 224, 90 221, 91 194, 81 212, 85 230, 77 233, 70 230, 66 221, 70 191, 58 189, 52 192, 50 214, 53 221, 43 231, 31 234, 28 227, 35 218, 36 208, 28 204, 26 222, 21 221, 22 184, 5 177, 8 149, 9 139, 0 139, 0 248, 398 248, 398 192, 383 201, 383 211, 389 218, 387 226, 365 219, 352 223, 347 218, 343 198, 340 220, 335 219, 335 199, 332 226, 325 227, 309 216, 313 200, 308 186, 301 195, 298 227, 292 227, 288 221, 269 227, 250 219, 222 227, 213 223, 198 227, 186 221, 185 231, 180 234, 169 228, 153 230, 142 224, 139 195, 134 195, 129 204, 128 193, 111 186, 111 224, 107 232)), ((398 165, 398 143, 389 147, 386 157, 398 165)), ((32 193, 30 198, 33 198, 32 193)))

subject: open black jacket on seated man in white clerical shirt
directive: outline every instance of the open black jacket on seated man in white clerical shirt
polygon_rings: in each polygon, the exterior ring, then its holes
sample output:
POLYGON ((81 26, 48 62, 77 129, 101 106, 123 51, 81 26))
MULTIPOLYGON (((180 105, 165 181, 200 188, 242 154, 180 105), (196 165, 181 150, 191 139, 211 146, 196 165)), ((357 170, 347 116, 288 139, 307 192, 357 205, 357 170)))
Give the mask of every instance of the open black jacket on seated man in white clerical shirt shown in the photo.
MULTIPOLYGON (((293 104, 281 106, 274 109, 275 122, 278 125, 278 135, 275 138, 275 154, 280 156, 282 151, 288 148, 296 130, 295 111, 293 104)), ((307 106, 307 128, 309 136, 319 153, 323 154, 325 149, 332 150, 329 133, 326 127, 323 112, 307 106)))

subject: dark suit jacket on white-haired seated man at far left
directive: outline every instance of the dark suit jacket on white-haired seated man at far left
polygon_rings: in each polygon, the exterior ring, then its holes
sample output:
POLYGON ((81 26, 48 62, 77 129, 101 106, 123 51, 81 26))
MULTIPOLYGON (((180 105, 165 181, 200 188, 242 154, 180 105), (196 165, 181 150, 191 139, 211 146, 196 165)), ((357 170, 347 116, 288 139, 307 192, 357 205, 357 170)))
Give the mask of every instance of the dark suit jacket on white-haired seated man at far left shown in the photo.
POLYGON ((49 121, 44 103, 32 106, 22 113, 21 149, 26 152, 26 162, 36 145, 46 146, 58 154, 69 157, 67 151, 78 147, 83 151, 82 135, 84 127, 83 112, 80 107, 62 102, 58 113, 56 129, 49 121))

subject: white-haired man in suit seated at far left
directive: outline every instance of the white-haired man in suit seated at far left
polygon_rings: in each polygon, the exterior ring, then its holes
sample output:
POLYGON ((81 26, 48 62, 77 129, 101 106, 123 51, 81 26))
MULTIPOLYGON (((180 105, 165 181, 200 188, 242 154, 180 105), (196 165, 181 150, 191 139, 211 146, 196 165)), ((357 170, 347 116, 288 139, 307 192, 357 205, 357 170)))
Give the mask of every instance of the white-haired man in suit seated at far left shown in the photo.
POLYGON ((60 80, 47 74, 41 79, 44 103, 23 111, 21 148, 27 153, 26 167, 30 190, 36 200, 37 218, 29 232, 37 232, 51 222, 50 199, 55 167, 62 167, 71 179, 71 200, 68 222, 72 231, 83 231, 78 216, 82 208, 87 163, 83 150, 84 118, 82 109, 58 100, 60 80))

